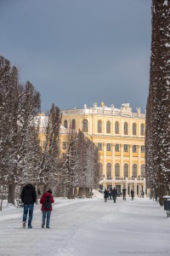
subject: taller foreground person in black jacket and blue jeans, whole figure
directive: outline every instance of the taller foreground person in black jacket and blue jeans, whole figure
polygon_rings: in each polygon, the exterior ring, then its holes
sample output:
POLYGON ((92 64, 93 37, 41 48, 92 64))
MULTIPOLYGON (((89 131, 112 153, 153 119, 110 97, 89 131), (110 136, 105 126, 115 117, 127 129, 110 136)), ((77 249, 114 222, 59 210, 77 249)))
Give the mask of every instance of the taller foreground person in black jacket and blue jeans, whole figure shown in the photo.
POLYGON ((34 203, 37 201, 35 187, 31 183, 26 184, 26 186, 22 189, 20 198, 24 203, 23 228, 26 228, 26 218, 29 210, 28 229, 32 229, 31 220, 33 216, 34 203))

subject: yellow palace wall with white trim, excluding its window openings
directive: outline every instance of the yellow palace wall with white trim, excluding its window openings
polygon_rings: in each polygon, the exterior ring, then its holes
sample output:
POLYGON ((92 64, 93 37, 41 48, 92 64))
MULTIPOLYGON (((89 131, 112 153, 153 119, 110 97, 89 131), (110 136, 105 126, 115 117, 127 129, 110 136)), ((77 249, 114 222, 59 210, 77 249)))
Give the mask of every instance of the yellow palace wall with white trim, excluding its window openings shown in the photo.
MULTIPOLYGON (((144 165, 144 152, 141 152, 141 147, 144 148, 144 133, 141 135, 141 125, 144 125, 145 129, 145 114, 141 113, 139 108, 137 109, 137 113, 132 113, 129 104, 122 104, 120 109, 113 107, 107 108, 105 104, 98 107, 96 103, 94 103, 94 108, 87 108, 84 105, 82 109, 63 110, 62 125, 67 129, 80 129, 97 146, 101 143, 102 148, 99 150, 99 162, 103 165, 103 171, 100 175, 103 188, 118 185, 119 181, 116 180, 118 177, 115 175, 116 164, 120 165, 119 178, 124 178, 124 165, 127 164, 128 166, 127 182, 122 179, 121 186, 127 185, 127 187, 133 189, 136 187, 136 190, 137 186, 139 186, 138 191, 139 189, 145 188, 145 178, 137 180, 141 176, 144 177, 144 174, 142 175, 141 173, 141 165, 144 165), (72 120, 74 120, 73 124, 72 120), (83 131, 83 120, 88 121, 88 131, 83 131), (101 122, 100 131, 98 129, 99 121, 101 122), (111 125, 110 132, 106 128, 108 121, 111 125), (116 122, 119 123, 118 134, 116 134, 116 122), (127 134, 124 132, 125 123, 127 123, 127 134), (136 125, 136 135, 133 135, 133 124, 136 125), (107 144, 111 144, 110 150, 107 149, 109 147, 107 144), (116 144, 119 144, 119 151, 116 151, 116 144), (124 145, 128 145, 127 152, 124 150, 124 145), (133 152, 133 146, 136 146, 136 152, 133 152), (108 163, 111 164, 111 177, 107 177, 106 166, 108 163), (134 164, 137 166, 137 175, 135 182, 132 183, 133 179, 131 178, 133 177, 134 164), (129 186, 129 183, 132 183, 131 186, 129 186)), ((137 194, 137 191, 135 192, 137 194)))

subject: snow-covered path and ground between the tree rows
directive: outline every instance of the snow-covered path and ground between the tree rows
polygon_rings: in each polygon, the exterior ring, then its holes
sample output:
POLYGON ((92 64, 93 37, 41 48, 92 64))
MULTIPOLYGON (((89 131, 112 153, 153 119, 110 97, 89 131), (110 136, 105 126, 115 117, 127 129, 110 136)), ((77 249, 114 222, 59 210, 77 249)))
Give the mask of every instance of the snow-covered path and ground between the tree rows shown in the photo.
POLYGON ((170 255, 170 218, 146 198, 63 200, 55 198, 51 229, 42 229, 35 205, 32 230, 23 230, 22 208, 4 201, 0 212, 0 255, 170 255))

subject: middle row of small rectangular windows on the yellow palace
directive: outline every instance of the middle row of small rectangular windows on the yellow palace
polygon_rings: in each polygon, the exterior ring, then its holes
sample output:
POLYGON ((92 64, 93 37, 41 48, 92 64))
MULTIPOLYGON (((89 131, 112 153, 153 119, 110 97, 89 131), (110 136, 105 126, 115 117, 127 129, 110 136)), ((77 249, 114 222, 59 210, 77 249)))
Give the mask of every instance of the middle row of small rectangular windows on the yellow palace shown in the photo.
MULTIPOLYGON (((98 143, 98 148, 99 151, 103 150, 103 143, 98 143)), ((140 146, 141 149, 141 153, 144 153, 144 146, 140 146)), ((107 143, 106 144, 106 151, 111 151, 111 143, 107 143)), ((115 151, 116 152, 120 152, 121 151, 121 145, 120 144, 116 144, 115 145, 115 151)), ((124 152, 128 152, 129 151, 129 145, 124 144, 124 152)), ((133 145, 133 153, 137 153, 138 152, 138 146, 137 145, 133 145)))

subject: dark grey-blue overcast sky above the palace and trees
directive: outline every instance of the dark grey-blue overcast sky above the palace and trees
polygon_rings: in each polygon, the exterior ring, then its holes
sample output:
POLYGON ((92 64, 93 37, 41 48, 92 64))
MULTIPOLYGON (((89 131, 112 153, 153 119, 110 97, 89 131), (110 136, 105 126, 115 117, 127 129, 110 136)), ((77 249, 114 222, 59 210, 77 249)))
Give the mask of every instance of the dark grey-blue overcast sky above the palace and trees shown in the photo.
POLYGON ((105 102, 145 112, 151 0, 0 0, 0 55, 41 94, 42 112, 105 102))

